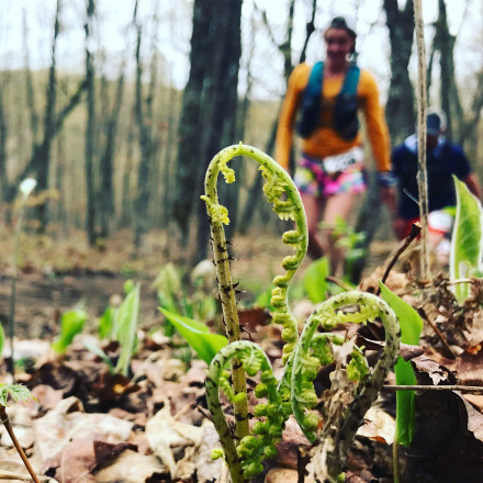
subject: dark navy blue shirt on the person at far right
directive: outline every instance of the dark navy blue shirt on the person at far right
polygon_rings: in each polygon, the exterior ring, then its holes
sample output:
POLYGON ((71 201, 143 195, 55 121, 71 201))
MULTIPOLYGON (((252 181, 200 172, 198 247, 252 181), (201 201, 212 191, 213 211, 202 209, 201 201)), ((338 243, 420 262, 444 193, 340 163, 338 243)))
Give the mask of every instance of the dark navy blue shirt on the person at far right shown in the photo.
MULTIPOLYGON (((428 210, 441 210, 457 204, 452 175, 463 180, 471 173, 471 166, 461 146, 446 141, 442 136, 438 145, 427 153, 428 210)), ((397 178, 398 215, 405 220, 419 216, 418 204, 404 191, 418 200, 417 189, 417 137, 415 134, 396 146, 392 151, 392 169, 397 178)))

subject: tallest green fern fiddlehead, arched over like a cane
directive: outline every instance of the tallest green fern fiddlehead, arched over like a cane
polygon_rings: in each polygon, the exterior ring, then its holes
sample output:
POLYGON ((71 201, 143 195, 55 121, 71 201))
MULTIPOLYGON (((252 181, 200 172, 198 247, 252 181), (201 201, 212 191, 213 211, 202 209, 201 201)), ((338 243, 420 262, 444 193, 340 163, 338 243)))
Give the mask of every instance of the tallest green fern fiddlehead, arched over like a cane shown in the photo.
MULTIPOLYGON (((260 170, 266 179, 263 192, 267 200, 273 203, 273 211, 282 220, 293 220, 296 224, 295 231, 287 232, 283 235, 283 242, 293 246, 296 252, 282 260, 282 267, 287 273, 273 280, 276 289, 272 291, 271 299, 271 305, 276 308, 273 322, 280 323, 284 327, 282 338, 288 344, 283 348, 283 361, 287 362, 297 340, 296 322, 290 313, 287 292, 290 281, 307 250, 308 236, 305 212, 299 191, 290 176, 272 158, 259 149, 240 143, 239 145, 223 149, 210 162, 204 182, 205 194, 202 199, 206 203, 210 220, 214 263, 218 279, 218 292, 222 301, 226 335, 229 342, 240 339, 240 327, 235 290, 229 271, 225 232, 223 228, 224 224, 229 223, 229 218, 226 207, 218 203, 216 184, 220 172, 223 172, 226 182, 231 183, 235 181, 235 172, 227 167, 227 162, 236 156, 247 156, 260 165, 260 170), (285 196, 285 199, 281 199, 283 196, 285 196)), ((245 372, 239 367, 239 361, 237 361, 236 358, 232 359, 232 369, 234 393, 246 394, 245 372)), ((283 384, 285 392, 289 385, 290 384, 283 384)), ((234 411, 236 420, 235 435, 242 439, 248 435, 246 398, 235 403, 234 411)))

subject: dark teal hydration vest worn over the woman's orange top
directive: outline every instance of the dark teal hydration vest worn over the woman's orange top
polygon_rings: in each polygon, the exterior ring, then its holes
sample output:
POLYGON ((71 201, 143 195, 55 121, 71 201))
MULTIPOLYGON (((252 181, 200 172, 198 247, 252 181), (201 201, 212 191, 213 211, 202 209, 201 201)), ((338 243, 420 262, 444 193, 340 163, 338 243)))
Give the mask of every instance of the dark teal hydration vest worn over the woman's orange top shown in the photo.
MULTIPOLYGON (((296 132, 301 137, 310 137, 321 122, 323 77, 324 63, 318 61, 311 70, 308 82, 302 97, 300 120, 296 125, 296 132)), ((340 92, 335 100, 333 127, 346 141, 353 139, 359 132, 359 119, 357 116, 357 86, 359 77, 359 67, 353 63, 350 64, 340 92)))

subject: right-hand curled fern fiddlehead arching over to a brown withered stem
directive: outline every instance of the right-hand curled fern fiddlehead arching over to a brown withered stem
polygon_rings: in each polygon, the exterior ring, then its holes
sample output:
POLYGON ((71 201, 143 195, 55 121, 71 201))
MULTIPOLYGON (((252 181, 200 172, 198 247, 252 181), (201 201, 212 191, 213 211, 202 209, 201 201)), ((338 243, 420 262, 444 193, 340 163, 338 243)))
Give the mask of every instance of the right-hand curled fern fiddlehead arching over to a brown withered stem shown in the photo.
MULTIPOLYGON (((307 439, 314 442, 321 435, 316 429, 319 426, 321 418, 311 413, 310 409, 317 403, 312 380, 315 378, 318 369, 327 363, 323 360, 321 353, 317 353, 317 341, 322 335, 316 335, 318 326, 324 329, 332 329, 337 324, 346 322, 362 323, 381 318, 385 329, 385 346, 375 367, 366 377, 363 370, 359 391, 353 402, 347 407, 344 415, 340 430, 338 431, 338 441, 333 445, 336 448, 334 454, 329 456, 329 473, 335 479, 341 471, 345 456, 350 443, 363 422, 363 416, 369 411, 371 404, 378 397, 379 391, 384 383, 391 367, 393 366, 400 347, 401 328, 397 318, 390 306, 375 295, 366 292, 352 291, 336 295, 323 302, 315 312, 308 317, 296 347, 292 367, 292 409, 300 427, 307 439), (344 307, 350 306, 345 312, 344 307)), ((324 335, 325 336, 325 335, 324 335)), ((352 360, 361 363, 361 356, 352 353, 352 360)), ((362 362, 362 368, 364 362, 362 362)), ((324 437, 329 437, 329 433, 324 431, 324 437)))

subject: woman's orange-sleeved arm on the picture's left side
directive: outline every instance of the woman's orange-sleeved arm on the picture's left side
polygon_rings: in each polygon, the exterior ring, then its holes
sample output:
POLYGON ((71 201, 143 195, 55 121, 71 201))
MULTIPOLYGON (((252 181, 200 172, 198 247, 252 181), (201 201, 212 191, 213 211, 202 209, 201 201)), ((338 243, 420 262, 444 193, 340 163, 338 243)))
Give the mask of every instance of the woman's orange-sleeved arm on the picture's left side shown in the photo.
MULTIPOLYGON (((301 94, 305 88, 304 71, 308 67, 301 64, 293 69, 289 78, 285 99, 280 111, 279 125, 276 141, 276 161, 285 170, 289 170, 290 150, 293 143, 293 131, 301 94)), ((306 74, 306 72, 305 72, 306 74)))

